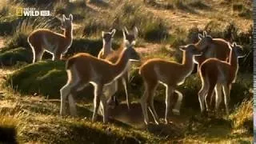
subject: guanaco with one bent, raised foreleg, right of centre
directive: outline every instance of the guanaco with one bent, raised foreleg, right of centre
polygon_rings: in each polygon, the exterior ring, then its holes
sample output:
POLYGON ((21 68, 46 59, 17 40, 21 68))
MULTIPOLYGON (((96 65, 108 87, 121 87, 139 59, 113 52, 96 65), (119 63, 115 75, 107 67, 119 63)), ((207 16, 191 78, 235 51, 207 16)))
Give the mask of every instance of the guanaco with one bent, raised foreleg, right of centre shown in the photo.
POLYGON ((158 83, 166 86, 166 123, 168 122, 167 116, 170 109, 170 97, 174 92, 178 94, 178 101, 174 106, 173 112, 174 114, 180 113, 179 110, 183 96, 176 87, 182 85, 186 77, 188 77, 194 69, 194 56, 201 54, 193 44, 180 46, 180 50, 183 51, 182 63, 168 62, 163 59, 154 58, 146 61, 139 70, 139 74, 141 74, 145 86, 145 92, 141 98, 141 105, 146 124, 149 123, 147 108, 149 108, 153 115, 154 122, 156 124, 159 123, 158 114, 154 110, 154 92, 158 83))

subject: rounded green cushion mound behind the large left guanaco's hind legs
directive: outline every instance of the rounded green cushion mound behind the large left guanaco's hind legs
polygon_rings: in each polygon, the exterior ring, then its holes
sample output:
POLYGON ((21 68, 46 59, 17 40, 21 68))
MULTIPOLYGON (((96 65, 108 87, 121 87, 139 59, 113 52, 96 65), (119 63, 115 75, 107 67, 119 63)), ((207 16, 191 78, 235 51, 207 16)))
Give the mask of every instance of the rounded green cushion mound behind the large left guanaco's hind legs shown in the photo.
POLYGON ((22 94, 42 94, 59 98, 59 90, 66 84, 65 62, 37 62, 22 67, 8 76, 6 85, 22 94))

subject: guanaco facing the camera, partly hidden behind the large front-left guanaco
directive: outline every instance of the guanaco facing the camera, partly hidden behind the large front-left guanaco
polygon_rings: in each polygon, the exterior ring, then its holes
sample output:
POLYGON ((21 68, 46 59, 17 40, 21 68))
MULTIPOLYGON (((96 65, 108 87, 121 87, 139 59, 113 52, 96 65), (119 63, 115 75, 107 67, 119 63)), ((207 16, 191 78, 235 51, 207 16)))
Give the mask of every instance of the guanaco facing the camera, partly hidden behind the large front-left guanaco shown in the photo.
MULTIPOLYGON (((135 45, 136 38, 138 37, 138 29, 136 26, 134 26, 133 32, 129 32, 125 27, 124 30, 122 30, 122 34, 123 34, 123 43, 122 43, 123 46, 120 47, 118 50, 113 50, 112 53, 108 54, 106 56, 107 61, 113 62, 113 63, 117 62, 118 58, 120 57, 120 54, 122 53, 123 48, 126 47, 127 43, 131 43, 133 46, 135 45)), ((130 62, 129 62, 129 67, 130 67, 130 62)), ((111 86, 108 86, 107 90, 109 91, 106 91, 106 93, 113 95, 111 99, 114 99, 116 101, 114 103, 117 103, 117 100, 116 100, 117 98, 114 97, 114 93, 116 93, 118 89, 120 90, 120 86, 123 86, 126 93, 126 103, 127 103, 128 110, 130 110, 130 99, 129 99, 128 90, 127 90, 127 83, 129 81, 129 69, 130 68, 126 70, 126 72, 123 74, 121 78, 118 79, 117 82, 113 82, 111 86)))

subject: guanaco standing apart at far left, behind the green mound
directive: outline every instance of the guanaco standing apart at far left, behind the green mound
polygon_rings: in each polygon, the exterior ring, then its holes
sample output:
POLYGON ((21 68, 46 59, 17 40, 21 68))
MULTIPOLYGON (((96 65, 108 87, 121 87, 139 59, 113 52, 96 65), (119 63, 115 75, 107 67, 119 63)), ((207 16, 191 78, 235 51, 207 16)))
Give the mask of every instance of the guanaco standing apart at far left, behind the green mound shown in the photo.
POLYGON ((73 16, 69 18, 62 15, 62 26, 64 34, 58 34, 47 29, 34 30, 28 37, 27 41, 33 51, 33 63, 42 59, 42 54, 47 51, 53 55, 53 60, 62 58, 62 54, 70 48, 73 40, 72 28, 73 16))

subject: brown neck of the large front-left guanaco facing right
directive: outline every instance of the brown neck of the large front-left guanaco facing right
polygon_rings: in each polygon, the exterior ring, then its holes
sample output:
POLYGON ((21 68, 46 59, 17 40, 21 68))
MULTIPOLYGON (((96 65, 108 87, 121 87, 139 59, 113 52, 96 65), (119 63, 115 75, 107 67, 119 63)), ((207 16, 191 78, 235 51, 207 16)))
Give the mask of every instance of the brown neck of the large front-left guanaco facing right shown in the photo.
POLYGON ((128 58, 128 50, 132 48, 125 48, 122 50, 122 53, 120 54, 120 57, 118 58, 118 61, 113 65, 112 70, 114 71, 114 77, 119 78, 122 76, 122 73, 126 71, 129 65, 129 58, 128 58))

